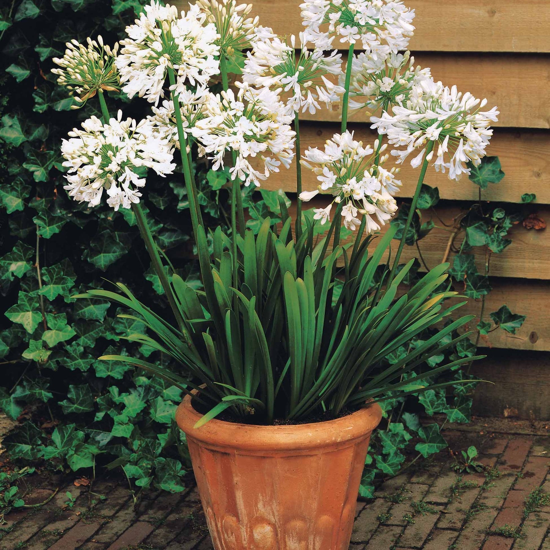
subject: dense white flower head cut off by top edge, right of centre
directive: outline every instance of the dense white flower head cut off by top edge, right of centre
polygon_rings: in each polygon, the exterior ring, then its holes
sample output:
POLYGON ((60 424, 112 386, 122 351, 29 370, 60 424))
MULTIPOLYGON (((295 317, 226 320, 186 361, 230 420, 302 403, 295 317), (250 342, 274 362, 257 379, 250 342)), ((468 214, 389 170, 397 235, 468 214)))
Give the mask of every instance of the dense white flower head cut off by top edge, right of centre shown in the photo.
POLYGON ((300 8, 306 40, 323 49, 339 36, 342 43, 360 41, 367 53, 384 58, 406 50, 414 33, 414 10, 397 0, 306 0, 300 8))

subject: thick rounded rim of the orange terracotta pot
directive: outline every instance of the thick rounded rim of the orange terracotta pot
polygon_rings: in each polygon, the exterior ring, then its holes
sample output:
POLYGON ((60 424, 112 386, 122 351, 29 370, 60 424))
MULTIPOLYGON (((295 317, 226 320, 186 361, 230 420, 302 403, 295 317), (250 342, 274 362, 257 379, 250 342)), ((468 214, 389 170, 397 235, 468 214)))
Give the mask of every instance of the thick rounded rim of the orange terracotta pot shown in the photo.
POLYGON ((188 438, 212 447, 273 452, 345 447, 372 433, 382 419, 382 409, 374 403, 335 420, 310 424, 257 426, 213 419, 194 428, 201 417, 191 405, 191 395, 186 395, 175 419, 188 438))

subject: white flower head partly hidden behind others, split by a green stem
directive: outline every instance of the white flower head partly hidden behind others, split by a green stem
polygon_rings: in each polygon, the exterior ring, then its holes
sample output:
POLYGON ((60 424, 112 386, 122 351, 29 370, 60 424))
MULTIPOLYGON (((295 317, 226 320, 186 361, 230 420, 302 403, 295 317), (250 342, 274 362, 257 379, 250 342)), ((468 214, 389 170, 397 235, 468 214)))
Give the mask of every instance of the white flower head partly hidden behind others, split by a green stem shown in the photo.
MULTIPOLYGON (((197 123, 217 112, 218 99, 206 86, 195 91, 186 90, 179 95, 185 139, 197 134, 197 123)), ((174 103, 164 100, 159 107, 152 107, 153 114, 147 117, 154 136, 168 140, 179 149, 178 128, 176 125, 174 103)))

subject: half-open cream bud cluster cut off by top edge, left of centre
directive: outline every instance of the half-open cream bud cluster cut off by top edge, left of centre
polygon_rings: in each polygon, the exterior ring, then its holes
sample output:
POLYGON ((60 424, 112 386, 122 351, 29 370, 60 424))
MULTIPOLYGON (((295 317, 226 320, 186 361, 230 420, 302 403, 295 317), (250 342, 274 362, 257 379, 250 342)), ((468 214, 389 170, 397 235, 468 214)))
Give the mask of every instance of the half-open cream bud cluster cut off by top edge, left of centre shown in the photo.
POLYGON ((259 18, 246 17, 252 4, 237 4, 235 0, 197 0, 204 10, 207 23, 216 25, 216 45, 224 56, 242 54, 256 40, 259 18))

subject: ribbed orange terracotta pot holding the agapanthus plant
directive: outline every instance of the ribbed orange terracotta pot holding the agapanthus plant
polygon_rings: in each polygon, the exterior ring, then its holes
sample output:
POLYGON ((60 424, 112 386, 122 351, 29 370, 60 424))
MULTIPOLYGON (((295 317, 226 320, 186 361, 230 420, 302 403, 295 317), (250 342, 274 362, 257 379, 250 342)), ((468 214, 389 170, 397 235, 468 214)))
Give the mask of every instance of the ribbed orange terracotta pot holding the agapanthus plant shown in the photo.
POLYGON ((200 417, 186 397, 176 420, 216 550, 348 550, 378 405, 296 426, 200 417))

